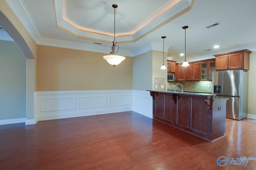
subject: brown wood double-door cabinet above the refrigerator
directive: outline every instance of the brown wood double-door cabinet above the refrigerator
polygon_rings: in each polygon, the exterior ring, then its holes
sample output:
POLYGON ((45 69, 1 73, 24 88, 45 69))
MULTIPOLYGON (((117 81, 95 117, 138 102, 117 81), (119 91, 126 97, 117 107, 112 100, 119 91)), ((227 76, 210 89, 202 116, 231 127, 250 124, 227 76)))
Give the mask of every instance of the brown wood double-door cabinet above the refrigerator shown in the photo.
POLYGON ((234 51, 231 53, 214 55, 216 57, 216 71, 220 70, 249 70, 249 50, 234 51))

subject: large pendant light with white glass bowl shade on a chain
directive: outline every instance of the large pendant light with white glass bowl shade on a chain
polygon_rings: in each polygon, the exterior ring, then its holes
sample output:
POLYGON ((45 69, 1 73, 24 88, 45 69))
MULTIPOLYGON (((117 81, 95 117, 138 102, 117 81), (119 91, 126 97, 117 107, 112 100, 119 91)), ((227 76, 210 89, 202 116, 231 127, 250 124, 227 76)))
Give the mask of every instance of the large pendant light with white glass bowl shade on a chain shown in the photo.
POLYGON ((103 58, 111 65, 116 66, 117 64, 120 64, 122 61, 124 61, 125 57, 122 55, 116 55, 115 49, 117 47, 117 51, 119 49, 119 46, 116 44, 116 8, 118 7, 116 4, 113 4, 112 7, 114 8, 114 41, 112 41, 112 51, 110 52, 110 55, 105 55, 103 58))

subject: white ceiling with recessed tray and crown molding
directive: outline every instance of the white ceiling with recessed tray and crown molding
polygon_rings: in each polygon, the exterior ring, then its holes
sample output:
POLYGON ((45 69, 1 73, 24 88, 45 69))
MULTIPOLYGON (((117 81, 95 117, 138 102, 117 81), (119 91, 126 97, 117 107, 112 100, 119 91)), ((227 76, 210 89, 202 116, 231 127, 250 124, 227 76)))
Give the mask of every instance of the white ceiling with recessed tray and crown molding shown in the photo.
MULTIPOLYGON (((168 51, 188 62, 248 49, 256 51, 256 0, 6 0, 37 44, 134 57, 150 50, 168 51), (190 9, 191 8, 191 9, 190 9), (220 23, 207 29, 208 25, 220 23), (102 43, 101 45, 95 44, 102 43), (220 45, 214 49, 214 45, 220 45), (209 51, 205 51, 212 49, 209 51)), ((1 22, 0 22, 1 25, 1 22)), ((2 25, 4 28, 4 25, 2 25)), ((6 30, 8 32, 8 30, 6 30)), ((2 31, 0 31, 0 37, 2 31)))

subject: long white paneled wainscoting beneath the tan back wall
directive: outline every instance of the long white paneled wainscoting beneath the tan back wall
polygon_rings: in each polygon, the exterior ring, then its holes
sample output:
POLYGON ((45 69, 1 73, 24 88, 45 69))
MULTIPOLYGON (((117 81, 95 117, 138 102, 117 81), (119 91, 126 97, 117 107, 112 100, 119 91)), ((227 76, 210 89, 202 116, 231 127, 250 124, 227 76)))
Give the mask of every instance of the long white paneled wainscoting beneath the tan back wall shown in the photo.
POLYGON ((132 90, 35 92, 38 121, 132 111, 132 90))

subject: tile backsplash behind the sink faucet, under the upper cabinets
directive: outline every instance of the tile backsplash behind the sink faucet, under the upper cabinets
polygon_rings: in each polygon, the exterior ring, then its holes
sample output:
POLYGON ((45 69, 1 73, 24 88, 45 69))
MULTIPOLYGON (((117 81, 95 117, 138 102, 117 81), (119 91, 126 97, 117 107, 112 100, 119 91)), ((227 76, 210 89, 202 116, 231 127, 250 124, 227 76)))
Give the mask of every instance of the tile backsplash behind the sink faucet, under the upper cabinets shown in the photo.
MULTIPOLYGON (((183 86, 184 91, 196 91, 196 92, 212 92, 211 81, 194 81, 194 82, 167 82, 167 89, 174 90, 175 84, 180 83, 183 86)), ((176 86, 176 90, 181 90, 181 86, 176 86)))

